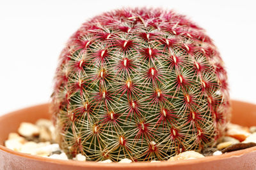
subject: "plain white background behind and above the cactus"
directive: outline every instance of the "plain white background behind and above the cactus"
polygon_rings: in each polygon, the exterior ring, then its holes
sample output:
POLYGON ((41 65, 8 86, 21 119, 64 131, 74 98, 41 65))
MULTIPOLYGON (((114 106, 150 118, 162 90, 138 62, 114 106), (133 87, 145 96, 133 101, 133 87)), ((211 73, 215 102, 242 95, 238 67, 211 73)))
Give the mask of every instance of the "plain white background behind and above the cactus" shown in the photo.
POLYGON ((256 103, 252 1, 0 0, 0 115, 49 102, 58 55, 86 19, 126 6, 173 9, 207 30, 226 63, 230 96, 256 103))

